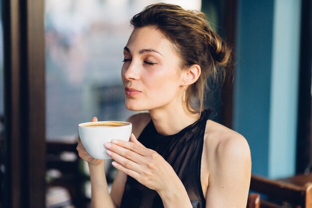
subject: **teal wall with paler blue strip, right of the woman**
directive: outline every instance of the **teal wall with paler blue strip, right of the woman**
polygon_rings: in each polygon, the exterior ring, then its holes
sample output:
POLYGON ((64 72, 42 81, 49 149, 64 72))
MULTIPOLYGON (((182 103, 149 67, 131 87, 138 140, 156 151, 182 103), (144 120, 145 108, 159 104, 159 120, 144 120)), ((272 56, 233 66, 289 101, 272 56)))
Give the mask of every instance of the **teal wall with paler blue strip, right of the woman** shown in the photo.
POLYGON ((295 173, 299 20, 299 0, 239 0, 233 127, 269 178, 295 173))

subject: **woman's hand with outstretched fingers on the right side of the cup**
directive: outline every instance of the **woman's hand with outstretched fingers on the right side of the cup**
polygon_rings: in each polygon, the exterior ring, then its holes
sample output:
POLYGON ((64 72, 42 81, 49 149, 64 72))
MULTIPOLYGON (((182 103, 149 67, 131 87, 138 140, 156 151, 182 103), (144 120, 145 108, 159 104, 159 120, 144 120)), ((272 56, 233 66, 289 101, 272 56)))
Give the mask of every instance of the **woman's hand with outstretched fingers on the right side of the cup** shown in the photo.
POLYGON ((112 140, 104 146, 115 160, 114 167, 158 193, 172 190, 180 183, 172 167, 156 151, 144 147, 133 134, 130 142, 112 140))

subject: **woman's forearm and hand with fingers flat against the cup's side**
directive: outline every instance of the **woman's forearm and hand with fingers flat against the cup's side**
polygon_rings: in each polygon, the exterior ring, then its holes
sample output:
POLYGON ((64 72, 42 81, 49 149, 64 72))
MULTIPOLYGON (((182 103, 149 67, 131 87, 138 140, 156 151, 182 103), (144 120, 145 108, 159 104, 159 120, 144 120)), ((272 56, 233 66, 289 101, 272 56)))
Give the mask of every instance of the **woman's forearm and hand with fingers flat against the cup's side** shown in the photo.
POLYGON ((106 143, 107 154, 118 170, 155 190, 164 208, 192 208, 186 190, 173 168, 156 151, 144 147, 134 135, 130 142, 106 143))

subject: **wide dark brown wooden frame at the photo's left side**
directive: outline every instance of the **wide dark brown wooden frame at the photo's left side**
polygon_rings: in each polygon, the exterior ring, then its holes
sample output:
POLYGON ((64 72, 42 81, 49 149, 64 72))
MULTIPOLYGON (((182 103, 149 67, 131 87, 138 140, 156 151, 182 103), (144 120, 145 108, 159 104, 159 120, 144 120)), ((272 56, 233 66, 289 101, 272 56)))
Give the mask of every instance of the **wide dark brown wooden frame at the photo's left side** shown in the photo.
POLYGON ((43 0, 2 1, 10 208, 45 207, 43 0))

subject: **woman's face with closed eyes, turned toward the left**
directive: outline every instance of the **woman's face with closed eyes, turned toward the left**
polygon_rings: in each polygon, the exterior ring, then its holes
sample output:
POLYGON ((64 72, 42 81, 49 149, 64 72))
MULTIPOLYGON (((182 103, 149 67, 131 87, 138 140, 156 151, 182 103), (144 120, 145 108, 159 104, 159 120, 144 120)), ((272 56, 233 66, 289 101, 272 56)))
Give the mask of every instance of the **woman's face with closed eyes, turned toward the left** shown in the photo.
POLYGON ((129 110, 175 108, 183 77, 172 43, 153 27, 136 28, 124 48, 122 80, 129 110))

